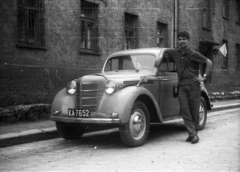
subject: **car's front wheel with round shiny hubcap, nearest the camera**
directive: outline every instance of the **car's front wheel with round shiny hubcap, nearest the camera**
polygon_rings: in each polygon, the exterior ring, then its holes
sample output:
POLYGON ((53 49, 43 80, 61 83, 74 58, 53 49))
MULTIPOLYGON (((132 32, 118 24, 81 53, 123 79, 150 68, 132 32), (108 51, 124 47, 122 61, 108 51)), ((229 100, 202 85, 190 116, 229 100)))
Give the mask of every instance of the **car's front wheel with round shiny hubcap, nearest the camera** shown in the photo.
POLYGON ((129 147, 141 146, 147 140, 149 134, 149 112, 140 101, 133 105, 127 124, 120 126, 122 142, 129 147))

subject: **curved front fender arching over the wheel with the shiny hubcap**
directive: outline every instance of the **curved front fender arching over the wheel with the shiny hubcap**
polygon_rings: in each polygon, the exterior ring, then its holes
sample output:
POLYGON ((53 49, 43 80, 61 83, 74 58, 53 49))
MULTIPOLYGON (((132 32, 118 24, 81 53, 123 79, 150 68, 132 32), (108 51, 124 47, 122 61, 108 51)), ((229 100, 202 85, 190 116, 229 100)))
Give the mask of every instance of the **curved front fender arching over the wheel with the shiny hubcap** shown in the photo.
POLYGON ((141 86, 129 86, 111 95, 105 93, 99 103, 97 113, 107 115, 110 115, 111 113, 117 113, 121 123, 127 123, 134 102, 142 95, 146 95, 151 99, 160 122, 163 122, 161 110, 154 96, 146 88, 141 86))

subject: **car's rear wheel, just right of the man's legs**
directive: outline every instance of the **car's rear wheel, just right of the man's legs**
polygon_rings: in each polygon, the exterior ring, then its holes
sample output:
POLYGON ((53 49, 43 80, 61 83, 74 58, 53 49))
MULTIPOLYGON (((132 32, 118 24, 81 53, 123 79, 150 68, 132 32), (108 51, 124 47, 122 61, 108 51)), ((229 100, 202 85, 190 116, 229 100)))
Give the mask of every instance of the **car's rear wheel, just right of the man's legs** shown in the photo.
POLYGON ((207 105, 206 101, 203 97, 200 99, 200 107, 199 107, 199 125, 198 130, 203 130, 207 121, 207 105))

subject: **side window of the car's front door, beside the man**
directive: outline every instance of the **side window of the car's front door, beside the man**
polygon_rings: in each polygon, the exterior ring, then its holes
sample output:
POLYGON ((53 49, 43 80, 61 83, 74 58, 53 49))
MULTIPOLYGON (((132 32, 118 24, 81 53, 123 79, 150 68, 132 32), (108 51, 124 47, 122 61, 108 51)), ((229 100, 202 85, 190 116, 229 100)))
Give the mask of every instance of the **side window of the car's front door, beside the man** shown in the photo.
POLYGON ((165 72, 177 72, 175 62, 171 57, 163 57, 161 65, 158 67, 158 75, 165 72))

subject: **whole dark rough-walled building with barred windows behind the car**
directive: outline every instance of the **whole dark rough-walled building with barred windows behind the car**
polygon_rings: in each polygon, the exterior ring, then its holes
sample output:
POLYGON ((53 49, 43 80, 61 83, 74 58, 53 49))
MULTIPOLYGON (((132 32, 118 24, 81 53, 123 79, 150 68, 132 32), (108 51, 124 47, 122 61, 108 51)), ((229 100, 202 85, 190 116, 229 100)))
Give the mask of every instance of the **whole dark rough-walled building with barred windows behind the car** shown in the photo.
POLYGON ((175 47, 178 30, 213 61, 209 89, 240 90, 239 8, 239 0, 1 1, 0 106, 51 103, 67 81, 100 71, 112 52, 175 47), (223 42, 226 57, 213 53, 223 42))

